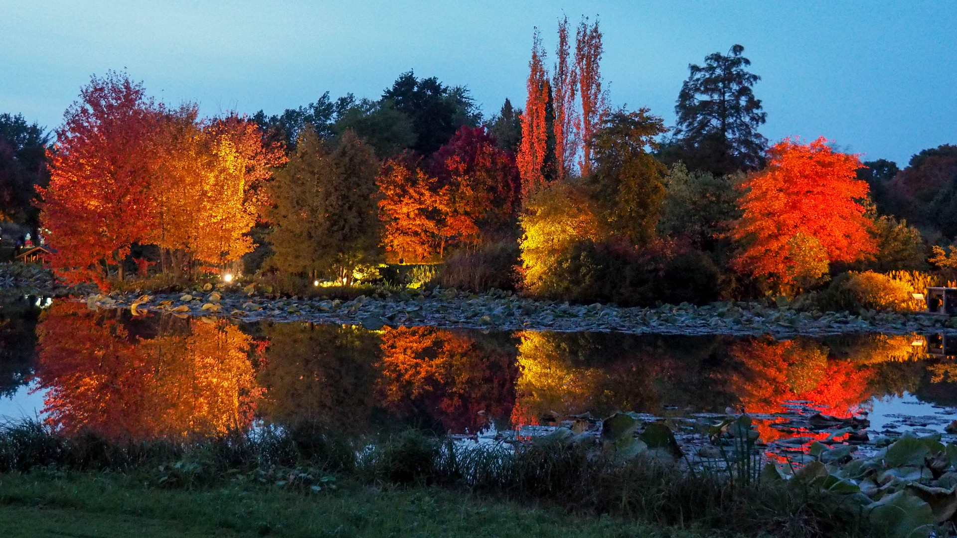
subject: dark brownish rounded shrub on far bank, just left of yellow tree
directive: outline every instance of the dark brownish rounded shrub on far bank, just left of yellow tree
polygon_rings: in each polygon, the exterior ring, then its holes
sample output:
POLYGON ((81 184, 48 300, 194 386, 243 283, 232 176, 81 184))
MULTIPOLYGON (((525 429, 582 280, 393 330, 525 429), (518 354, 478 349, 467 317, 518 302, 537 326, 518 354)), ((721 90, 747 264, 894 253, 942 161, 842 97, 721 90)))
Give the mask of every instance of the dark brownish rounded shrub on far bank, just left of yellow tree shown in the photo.
POLYGON ((477 292, 493 288, 514 290, 518 264, 518 242, 489 243, 476 251, 460 250, 446 258, 436 280, 442 287, 477 292))

